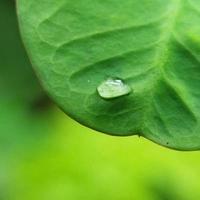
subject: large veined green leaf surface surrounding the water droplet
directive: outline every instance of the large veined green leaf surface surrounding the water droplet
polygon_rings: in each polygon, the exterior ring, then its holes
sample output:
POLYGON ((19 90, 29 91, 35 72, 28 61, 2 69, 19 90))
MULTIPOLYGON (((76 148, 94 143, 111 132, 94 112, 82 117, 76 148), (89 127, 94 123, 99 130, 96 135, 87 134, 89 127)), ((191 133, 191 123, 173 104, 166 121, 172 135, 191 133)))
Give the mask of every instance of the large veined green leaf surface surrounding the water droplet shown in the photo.
POLYGON ((23 40, 46 91, 80 123, 200 149, 199 0, 18 0, 23 40), (129 95, 106 100, 109 78, 129 95))

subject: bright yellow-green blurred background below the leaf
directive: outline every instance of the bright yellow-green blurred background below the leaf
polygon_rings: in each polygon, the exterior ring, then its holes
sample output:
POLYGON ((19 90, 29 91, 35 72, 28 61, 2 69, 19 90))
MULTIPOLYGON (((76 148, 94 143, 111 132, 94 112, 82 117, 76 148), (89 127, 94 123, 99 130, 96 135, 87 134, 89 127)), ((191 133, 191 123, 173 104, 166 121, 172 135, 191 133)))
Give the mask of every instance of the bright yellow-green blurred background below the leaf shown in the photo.
POLYGON ((61 112, 56 118, 43 148, 28 152, 29 159, 16 167, 11 194, 18 199, 200 199, 198 152, 96 134, 61 112))

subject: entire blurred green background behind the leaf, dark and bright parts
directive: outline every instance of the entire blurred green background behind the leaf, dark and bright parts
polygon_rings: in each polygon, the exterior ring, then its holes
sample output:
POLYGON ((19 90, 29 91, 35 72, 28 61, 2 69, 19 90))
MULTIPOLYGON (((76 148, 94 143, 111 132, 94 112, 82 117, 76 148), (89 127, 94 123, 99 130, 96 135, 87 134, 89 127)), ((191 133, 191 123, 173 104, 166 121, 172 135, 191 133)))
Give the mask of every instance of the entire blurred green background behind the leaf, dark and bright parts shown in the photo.
POLYGON ((85 128, 50 102, 0 1, 0 200, 199 200, 200 152, 85 128))

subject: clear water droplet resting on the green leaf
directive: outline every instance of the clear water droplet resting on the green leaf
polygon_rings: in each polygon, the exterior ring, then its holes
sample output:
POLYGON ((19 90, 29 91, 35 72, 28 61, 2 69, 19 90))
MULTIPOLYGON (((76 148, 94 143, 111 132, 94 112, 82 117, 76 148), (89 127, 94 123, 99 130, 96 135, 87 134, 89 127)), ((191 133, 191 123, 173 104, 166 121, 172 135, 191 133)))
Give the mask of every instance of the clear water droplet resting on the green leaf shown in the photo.
POLYGON ((102 98, 113 99, 129 94, 131 88, 120 79, 109 78, 98 86, 97 91, 102 98))

